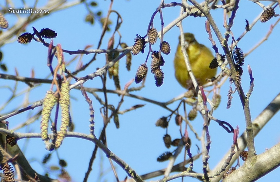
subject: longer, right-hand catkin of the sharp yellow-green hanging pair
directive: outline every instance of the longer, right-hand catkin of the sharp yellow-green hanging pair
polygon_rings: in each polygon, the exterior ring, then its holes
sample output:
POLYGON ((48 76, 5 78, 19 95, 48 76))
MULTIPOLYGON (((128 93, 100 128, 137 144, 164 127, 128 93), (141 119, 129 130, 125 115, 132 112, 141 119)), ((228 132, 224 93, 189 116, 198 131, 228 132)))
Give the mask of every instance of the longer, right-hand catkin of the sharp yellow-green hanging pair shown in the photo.
POLYGON ((61 84, 61 95, 59 99, 59 104, 61 106, 61 125, 60 131, 57 132, 57 138, 55 140, 55 147, 58 148, 62 140, 64 139, 67 128, 69 126, 70 116, 69 116, 69 105, 70 105, 70 95, 69 95, 69 82, 63 81, 61 84))

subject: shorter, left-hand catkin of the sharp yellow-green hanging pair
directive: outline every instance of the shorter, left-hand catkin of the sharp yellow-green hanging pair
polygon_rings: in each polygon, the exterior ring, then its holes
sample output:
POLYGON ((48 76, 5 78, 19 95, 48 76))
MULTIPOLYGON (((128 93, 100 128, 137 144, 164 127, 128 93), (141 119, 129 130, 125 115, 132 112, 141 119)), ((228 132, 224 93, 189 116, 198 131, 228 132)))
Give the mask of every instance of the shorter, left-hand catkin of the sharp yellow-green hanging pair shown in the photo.
POLYGON ((48 139, 48 123, 50 119, 50 114, 56 102, 57 102, 57 97, 55 96, 54 92, 47 91, 47 94, 43 101, 42 118, 40 124, 41 137, 43 140, 48 139))

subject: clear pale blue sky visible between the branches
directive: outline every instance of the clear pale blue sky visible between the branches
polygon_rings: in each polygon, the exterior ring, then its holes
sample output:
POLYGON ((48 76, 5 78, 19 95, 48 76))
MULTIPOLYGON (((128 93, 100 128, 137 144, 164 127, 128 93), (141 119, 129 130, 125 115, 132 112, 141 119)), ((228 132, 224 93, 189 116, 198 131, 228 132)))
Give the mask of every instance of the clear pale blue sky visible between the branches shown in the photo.
MULTIPOLYGON (((150 21, 152 13, 157 8, 160 1, 126 1, 119 0, 115 1, 113 4, 113 9, 118 11, 123 18, 123 23, 120 27, 120 32, 122 34, 122 42, 127 43, 129 46, 134 44, 134 38, 136 34, 145 35, 148 23, 150 21)), ((165 1, 165 3, 170 3, 172 1, 165 1)), ((110 1, 98 1, 98 6, 92 8, 93 11, 102 11, 103 16, 106 15, 107 9, 109 7, 110 1)), ((1 4, 1 3, 0 3, 1 4)), ((30 4, 32 4, 30 2, 30 4)), ((43 6, 45 3, 40 2, 39 6, 43 6)), ((3 4, 1 4, 3 6, 3 4)), ((17 7, 21 7, 21 3, 16 4, 17 7)), ((234 26, 232 27, 232 32, 235 35, 235 38, 239 37, 245 30, 245 19, 251 23, 256 16, 258 16, 262 9, 252 3, 251 1, 241 1, 237 11, 237 16, 234 21, 234 26), (248 10, 250 7, 250 10, 248 10), (248 12, 250 11, 250 13, 248 12)), ((168 25, 171 21, 179 16, 180 8, 172 7, 165 8, 163 11, 164 25, 168 25)), ((276 8, 276 13, 279 11, 276 8)), ((211 11, 213 13, 214 20, 216 21, 218 27, 220 28, 222 34, 225 32, 223 28, 223 11, 215 10, 211 11)), ((84 5, 78 5, 73 8, 66 10, 61 10, 55 12, 49 16, 41 18, 39 21, 32 22, 26 27, 27 32, 32 33, 32 26, 37 30, 41 28, 51 28, 55 30, 58 36, 54 39, 54 45, 61 44, 63 49, 67 50, 77 50, 83 49, 86 45, 93 45, 93 49, 97 47, 99 37, 101 35, 101 25, 95 22, 94 26, 89 23, 85 23, 84 19, 87 15, 87 10, 84 5)), ((19 17, 26 16, 24 14, 18 14, 19 17)), ((14 14, 5 15, 10 25, 15 23, 16 16, 14 14)), ((116 16, 112 15, 111 20, 113 23, 116 20, 116 16)), ((193 18, 188 17, 183 20, 183 28, 185 32, 191 32, 195 34, 195 37, 198 42, 205 44, 207 47, 211 47, 211 42, 208 40, 208 35, 205 32, 205 21, 206 18, 193 18)), ((258 21, 253 27, 253 29, 246 34, 246 36, 238 43, 244 53, 248 52, 252 47, 254 47, 269 31, 270 25, 274 24, 277 21, 277 18, 272 18, 272 20, 267 23, 261 23, 258 21)), ((160 30, 160 18, 157 14, 154 20, 154 26, 157 30, 160 30)), ((113 27, 112 27, 113 28, 113 27)), ((5 30, 4 30, 5 31, 5 30)), ((279 26, 277 25, 274 28, 269 39, 264 42, 260 47, 258 47, 254 52, 245 58, 244 73, 242 75, 242 87, 245 92, 249 88, 249 76, 248 71, 246 70, 247 65, 249 64, 253 70, 253 77, 255 78, 255 87, 253 94, 250 97, 250 110, 252 119, 255 119, 256 116, 269 104, 269 102, 278 94, 279 92, 279 81, 275 79, 278 74, 279 68, 279 58, 277 56, 279 36, 276 32, 279 32, 279 26)), ((107 48, 107 42, 109 37, 112 35, 112 31, 106 33, 101 48, 107 48)), ((141 91, 132 92, 132 94, 140 95, 150 99, 158 100, 161 102, 167 101, 176 97, 180 94, 183 94, 186 90, 182 88, 174 77, 173 70, 173 58, 175 50, 178 44, 178 35, 179 28, 173 27, 169 32, 164 35, 164 40, 169 42, 171 46, 171 53, 169 55, 164 55, 165 65, 162 67, 164 71, 164 84, 161 87, 156 87, 153 79, 153 75, 148 72, 146 78, 146 85, 141 91)), ((1 36, 1 35, 0 35, 1 36)), ((35 70, 36 78, 46 78, 48 75, 49 68, 46 66, 46 56, 47 48, 42 44, 35 42, 34 40, 27 45, 20 45, 16 41, 17 37, 9 42, 8 44, 1 47, 3 52, 3 60, 9 70, 7 74, 15 74, 14 68, 17 68, 20 76, 29 77, 31 74, 31 69, 35 70)), ((118 36, 116 40, 118 39, 118 36)), ((215 39, 216 42, 217 39, 215 39)), ((47 40, 49 41, 49 40, 47 40)), ((157 50, 158 43, 153 45, 153 49, 157 50)), ((148 49, 147 49, 148 50, 148 49)), ((221 51, 221 47, 219 46, 221 51)), ((144 63, 146 59, 147 51, 144 54, 139 54, 132 57, 132 67, 131 71, 125 69, 125 58, 120 61, 120 82, 121 87, 123 88, 125 83, 129 82, 134 78, 138 66, 144 63)), ((73 58, 71 55, 64 54, 66 60, 73 58)), ((92 58, 93 54, 84 55, 82 58, 83 63, 87 63, 88 60, 92 58)), ((149 59, 150 61, 150 59, 149 59)), ((88 67, 86 71, 82 71, 78 76, 85 76, 89 73, 92 73, 96 70, 97 67, 102 67, 105 63, 105 55, 100 54, 97 56, 97 60, 94 61, 92 65, 88 67)), ((78 64, 78 61, 75 61, 73 65, 67 67, 69 70, 73 71, 78 64)), ((148 66, 150 62, 148 62, 148 66)), ((220 70, 218 70, 220 71, 220 70)), ((8 80, 0 80, 1 86, 3 85, 14 85, 14 82, 8 80)), ((73 80, 71 81, 73 84, 73 80)), ((101 88, 101 79, 94 78, 84 84, 85 87, 94 87, 101 88)), ((132 83, 132 86, 136 87, 136 83, 132 83)), ((18 83, 18 93, 27 88, 25 83, 18 83)), ((30 93, 30 101, 36 101, 43 99, 47 90, 49 90, 49 84, 43 84, 42 86, 35 88, 30 93)), ((108 89, 114 89, 113 81, 108 80, 108 89)), ((1 89, 1 101, 0 106, 4 103, 6 95, 9 95, 10 92, 5 88, 1 89)), ((245 129, 244 114, 242 111, 241 102, 239 97, 236 94, 233 95, 232 107, 226 109, 227 106, 227 94, 229 89, 228 81, 221 88, 221 104, 219 108, 214 112, 213 116, 227 121, 232 124, 233 127, 239 126, 240 133, 245 129)), ((99 96, 103 99, 103 94, 98 93, 99 96)), ((80 94, 79 90, 71 90, 71 116, 73 122, 75 123, 75 131, 81 133, 89 133, 88 130, 88 119, 89 111, 88 104, 84 101, 83 96, 80 94)), ((99 112, 101 107, 97 100, 94 99, 93 95, 89 94, 89 97, 93 100, 93 106, 95 109, 95 135, 99 136, 103 121, 99 112)), ((120 101, 120 97, 115 94, 108 94, 109 103, 117 105, 120 101)), ((18 107, 18 104, 22 103, 24 95, 18 97, 11 102, 2 113, 7 113, 18 107)), ((159 163, 156 161, 157 157, 167 150, 174 150, 175 148, 166 149, 164 143, 162 142, 162 137, 165 134, 165 130, 155 127, 155 122, 158 118, 162 116, 168 116, 170 113, 162 109, 159 106, 155 106, 151 103, 144 102, 143 100, 137 100, 129 97, 125 97, 125 102, 121 107, 121 110, 128 109, 131 106, 136 104, 146 104, 145 107, 137 109, 136 111, 130 111, 123 115, 119 115, 120 119, 120 128, 116 129, 113 122, 111 122, 107 127, 107 142, 109 149, 127 162, 133 169, 136 170, 138 174, 144 174, 158 169, 165 168, 167 162, 159 163)), ((175 109, 179 102, 175 102, 171 106, 172 109, 175 109)), ((27 111, 23 114, 13 116, 8 119, 10 123, 10 128, 15 128, 20 123, 24 122, 29 116, 33 116, 40 108, 34 109, 34 111, 27 111)), ((188 106, 187 111, 192 109, 188 106)), ((180 110, 180 113, 183 114, 183 110, 180 110)), ((197 117, 195 121, 192 121, 193 127, 200 134, 202 130, 202 118, 197 117)), ((255 146, 257 154, 261 154, 267 148, 271 148, 273 145, 279 142, 279 113, 277 113, 274 118, 263 128, 261 133, 255 138, 255 146)), ((179 138, 179 128, 174 123, 174 117, 169 128, 169 134, 172 138, 179 138)), ((27 129, 18 130, 18 132, 39 132, 39 121, 32 123, 27 129)), ((215 122, 211 122, 209 127, 209 132, 211 135, 211 149, 210 149, 210 159, 209 165, 213 168, 224 153, 230 149, 232 144, 232 135, 228 134, 225 130, 218 126, 215 122)), ((193 137, 193 134, 190 133, 190 137, 193 137)), ((18 144, 24 146, 28 142, 28 147, 25 148, 24 152, 27 159, 30 159, 31 165, 38 173, 43 174, 45 169, 34 160, 41 160, 48 151, 45 150, 44 143, 41 139, 29 139, 29 140, 20 140, 18 144), (34 150, 36 149, 36 150, 34 150)), ((197 148, 195 145, 201 144, 199 141, 193 139, 191 151, 193 154, 196 153, 197 148)), ((66 138, 59 148, 58 153, 62 159, 65 159, 68 163, 66 170, 72 176, 73 181, 82 181, 84 178, 85 172, 88 167, 88 161, 90 159, 92 150, 94 149, 94 144, 88 141, 84 141, 78 138, 66 138)), ((176 164, 183 160, 183 155, 180 155, 176 164)), ((58 161, 55 155, 53 155, 52 160, 48 165, 57 165, 58 161)), ((116 169, 119 174, 119 179, 123 180, 126 176, 125 172, 122 171, 117 165, 116 169)), ((106 155, 100 150, 97 153, 97 159, 92 166, 93 171, 90 175, 88 181, 115 181, 113 173, 110 171, 110 166, 106 155), (102 168, 101 168, 102 163, 102 168), (100 168, 104 170, 104 176, 99 178, 100 168), (109 172, 108 172, 109 171, 109 172)), ((196 172, 202 172, 201 159, 197 160, 194 164, 194 170, 196 172)), ((272 171, 267 176, 261 178, 259 181, 272 181, 275 179, 279 173, 279 169, 272 171)), ((55 178, 55 176, 51 176, 55 178)), ((161 177, 155 178, 160 179, 161 177)), ((181 180, 181 179, 178 179, 181 180)), ((176 181, 178 181, 176 180, 176 181)), ((188 181, 197 181, 196 179, 186 178, 188 181)))

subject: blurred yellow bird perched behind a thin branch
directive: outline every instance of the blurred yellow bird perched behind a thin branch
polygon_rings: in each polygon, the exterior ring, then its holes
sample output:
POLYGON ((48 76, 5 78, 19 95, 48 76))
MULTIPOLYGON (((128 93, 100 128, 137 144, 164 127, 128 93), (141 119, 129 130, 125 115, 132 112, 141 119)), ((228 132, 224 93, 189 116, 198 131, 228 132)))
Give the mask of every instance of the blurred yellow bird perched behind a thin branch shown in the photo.
MULTIPOLYGON (((186 51, 192 67, 193 75, 199 85, 204 85, 207 83, 207 78, 211 79, 216 75, 217 68, 209 68, 209 64, 214 59, 214 56, 210 49, 202 44, 199 44, 195 40, 192 33, 184 33, 184 37, 186 42, 186 51)), ((193 85, 186 68, 180 42, 179 37, 179 44, 174 58, 175 77, 182 87, 190 89, 193 85)))

